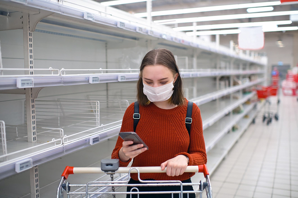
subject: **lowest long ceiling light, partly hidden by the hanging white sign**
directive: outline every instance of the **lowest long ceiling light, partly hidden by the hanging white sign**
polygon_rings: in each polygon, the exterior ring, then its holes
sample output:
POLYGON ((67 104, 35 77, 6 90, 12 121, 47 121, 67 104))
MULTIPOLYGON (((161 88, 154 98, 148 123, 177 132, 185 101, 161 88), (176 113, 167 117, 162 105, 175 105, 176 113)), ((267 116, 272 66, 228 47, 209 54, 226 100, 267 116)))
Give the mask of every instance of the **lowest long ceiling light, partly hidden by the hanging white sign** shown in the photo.
MULTIPOLYGON (((275 31, 291 31, 298 30, 298 26, 294 27, 271 27, 271 28, 263 28, 264 32, 275 32, 275 31)), ((216 35, 216 34, 239 34, 240 29, 233 30, 213 30, 213 31, 198 31, 198 32, 186 32, 187 36, 202 36, 202 35, 216 35)))

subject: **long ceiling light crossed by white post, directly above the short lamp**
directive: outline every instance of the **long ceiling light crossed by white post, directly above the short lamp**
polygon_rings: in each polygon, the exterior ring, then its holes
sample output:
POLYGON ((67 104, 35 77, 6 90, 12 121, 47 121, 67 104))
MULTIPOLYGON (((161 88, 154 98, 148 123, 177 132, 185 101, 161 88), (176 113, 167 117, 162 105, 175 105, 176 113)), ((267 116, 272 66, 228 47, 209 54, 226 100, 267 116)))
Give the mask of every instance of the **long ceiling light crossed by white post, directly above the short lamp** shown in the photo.
MULTIPOLYGON (((151 16, 177 15, 177 14, 187 14, 187 13, 195 13, 195 12, 208 12, 208 11, 240 9, 240 8, 250 8, 250 7, 275 6, 275 5, 280 5, 280 1, 249 3, 249 4, 233 4, 233 5, 210 6, 210 7, 197 7, 197 8, 187 8, 187 9, 163 10, 163 11, 151 12, 151 16)), ((136 16, 136 17, 147 17, 147 12, 136 13, 136 14, 134 14, 134 16, 136 16)))

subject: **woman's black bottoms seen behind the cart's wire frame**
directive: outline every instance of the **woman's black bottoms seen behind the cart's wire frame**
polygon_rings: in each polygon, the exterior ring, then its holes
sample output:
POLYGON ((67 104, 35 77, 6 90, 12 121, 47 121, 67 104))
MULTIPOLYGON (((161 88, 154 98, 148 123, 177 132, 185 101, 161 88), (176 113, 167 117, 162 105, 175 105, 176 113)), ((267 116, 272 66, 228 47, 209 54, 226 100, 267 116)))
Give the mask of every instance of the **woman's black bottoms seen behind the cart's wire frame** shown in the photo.
MULTIPOLYGON (((153 179, 146 179, 154 181, 153 179)), ((129 184, 140 184, 141 182, 130 179, 129 184)), ((190 178, 188 180, 182 181, 182 183, 191 183, 190 178)), ((150 191, 181 191, 180 186, 135 186, 140 192, 150 192, 150 191)), ((134 186, 128 186, 127 192, 130 192, 134 186)), ((193 186, 183 186, 184 191, 193 191, 193 186)), ((136 190, 132 190, 136 192, 136 190)), ((173 194, 174 198, 179 198, 179 194, 173 194)), ((137 198, 137 194, 132 194, 132 198, 137 198)), ((130 194, 126 195, 126 198, 130 198, 130 194)), ((172 198, 172 194, 140 194, 139 198, 172 198)), ((187 198, 187 194, 183 194, 183 198, 187 198)), ((189 198, 195 198, 194 193, 189 194, 189 198)))

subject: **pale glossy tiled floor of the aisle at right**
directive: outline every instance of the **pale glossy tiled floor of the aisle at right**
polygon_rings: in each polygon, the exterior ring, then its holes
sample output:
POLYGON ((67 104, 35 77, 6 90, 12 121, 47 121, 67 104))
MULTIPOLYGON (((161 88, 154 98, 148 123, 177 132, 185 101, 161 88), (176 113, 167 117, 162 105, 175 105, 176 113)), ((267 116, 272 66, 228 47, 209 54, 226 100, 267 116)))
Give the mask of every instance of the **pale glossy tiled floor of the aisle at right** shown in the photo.
POLYGON ((258 115, 211 175, 211 185, 214 198, 298 198, 297 98, 282 96, 280 119, 269 126, 258 115))

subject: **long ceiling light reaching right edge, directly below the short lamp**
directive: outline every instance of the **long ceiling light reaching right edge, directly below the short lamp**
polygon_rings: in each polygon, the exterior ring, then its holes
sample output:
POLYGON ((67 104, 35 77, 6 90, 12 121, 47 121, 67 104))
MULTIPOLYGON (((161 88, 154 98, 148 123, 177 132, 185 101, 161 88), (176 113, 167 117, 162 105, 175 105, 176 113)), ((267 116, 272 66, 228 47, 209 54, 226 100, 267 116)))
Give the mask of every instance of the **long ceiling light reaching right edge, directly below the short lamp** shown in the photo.
POLYGON ((298 10, 281 11, 281 12, 236 14, 236 15, 219 15, 219 16, 208 16, 208 17, 167 19, 167 20, 155 20, 154 23, 158 23, 158 24, 175 24, 175 23, 190 23, 190 22, 214 21, 214 20, 229 20, 229 19, 244 19, 244 18, 257 18, 257 17, 284 16, 284 15, 296 15, 296 14, 298 14, 298 10))

